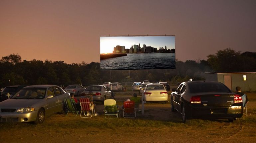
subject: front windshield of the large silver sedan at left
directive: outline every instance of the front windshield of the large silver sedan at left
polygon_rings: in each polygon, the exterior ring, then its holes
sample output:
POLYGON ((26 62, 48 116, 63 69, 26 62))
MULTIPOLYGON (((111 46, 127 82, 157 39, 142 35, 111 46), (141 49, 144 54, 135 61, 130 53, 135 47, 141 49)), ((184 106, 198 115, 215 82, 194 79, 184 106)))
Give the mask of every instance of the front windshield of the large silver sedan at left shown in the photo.
POLYGON ((14 99, 43 99, 45 98, 46 88, 25 88, 13 95, 14 99))

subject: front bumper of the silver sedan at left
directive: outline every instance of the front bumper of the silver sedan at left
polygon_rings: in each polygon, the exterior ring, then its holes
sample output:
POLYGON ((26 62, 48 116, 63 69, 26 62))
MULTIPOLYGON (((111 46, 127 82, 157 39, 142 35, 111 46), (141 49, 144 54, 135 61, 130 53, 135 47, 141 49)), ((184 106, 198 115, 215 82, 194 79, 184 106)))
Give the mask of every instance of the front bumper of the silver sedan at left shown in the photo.
POLYGON ((0 112, 0 122, 32 122, 36 121, 37 111, 28 113, 4 113, 0 112))

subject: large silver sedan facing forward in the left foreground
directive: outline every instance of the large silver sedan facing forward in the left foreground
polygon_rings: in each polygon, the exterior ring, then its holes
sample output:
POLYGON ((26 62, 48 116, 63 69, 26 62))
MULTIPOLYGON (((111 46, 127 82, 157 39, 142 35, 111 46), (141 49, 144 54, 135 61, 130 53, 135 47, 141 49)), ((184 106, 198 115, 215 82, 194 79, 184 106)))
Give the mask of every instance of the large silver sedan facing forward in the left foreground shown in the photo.
POLYGON ((56 85, 27 86, 0 102, 0 122, 43 123, 46 116, 64 112, 67 98, 70 94, 56 85))

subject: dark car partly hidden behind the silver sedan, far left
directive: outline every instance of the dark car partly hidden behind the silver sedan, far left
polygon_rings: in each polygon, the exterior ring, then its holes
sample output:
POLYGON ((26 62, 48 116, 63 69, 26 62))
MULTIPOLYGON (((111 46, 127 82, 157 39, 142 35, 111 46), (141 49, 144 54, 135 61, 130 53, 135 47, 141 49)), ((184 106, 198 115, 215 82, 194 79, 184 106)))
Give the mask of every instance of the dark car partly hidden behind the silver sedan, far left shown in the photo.
POLYGON ((0 102, 8 99, 7 93, 10 94, 10 97, 12 97, 14 94, 16 94, 20 89, 26 87, 28 85, 16 85, 16 86, 8 86, 5 87, 0 94, 0 102))

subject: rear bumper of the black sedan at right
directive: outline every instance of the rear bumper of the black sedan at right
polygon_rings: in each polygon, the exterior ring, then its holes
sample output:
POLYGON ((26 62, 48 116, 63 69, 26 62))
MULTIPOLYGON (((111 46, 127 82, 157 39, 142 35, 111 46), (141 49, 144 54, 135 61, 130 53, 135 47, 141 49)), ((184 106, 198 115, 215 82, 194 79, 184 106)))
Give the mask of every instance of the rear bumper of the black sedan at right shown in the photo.
POLYGON ((243 116, 242 106, 226 107, 207 107, 207 108, 192 108, 193 118, 209 118, 209 119, 231 119, 241 118, 243 116))

